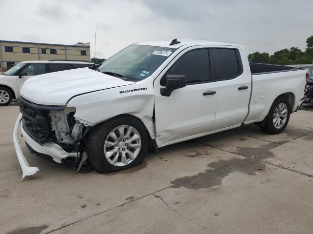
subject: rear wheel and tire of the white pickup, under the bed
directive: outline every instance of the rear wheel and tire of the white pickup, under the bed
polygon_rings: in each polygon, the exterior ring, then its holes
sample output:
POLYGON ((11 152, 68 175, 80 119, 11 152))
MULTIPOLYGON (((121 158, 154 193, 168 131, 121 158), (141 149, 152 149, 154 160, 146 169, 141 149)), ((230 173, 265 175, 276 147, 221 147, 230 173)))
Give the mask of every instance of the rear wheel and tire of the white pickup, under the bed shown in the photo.
POLYGON ((268 117, 262 131, 269 134, 279 134, 286 128, 291 114, 288 98, 280 96, 276 98, 269 109, 268 117))

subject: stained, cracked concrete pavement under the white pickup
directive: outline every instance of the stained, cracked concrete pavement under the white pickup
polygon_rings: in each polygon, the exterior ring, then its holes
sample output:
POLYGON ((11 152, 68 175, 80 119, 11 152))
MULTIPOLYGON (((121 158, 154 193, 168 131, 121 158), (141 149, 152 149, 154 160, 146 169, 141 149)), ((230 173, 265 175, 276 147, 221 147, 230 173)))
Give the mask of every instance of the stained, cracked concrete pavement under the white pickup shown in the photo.
POLYGON ((159 149, 134 168, 80 174, 29 154, 20 182, 18 105, 0 107, 0 230, 5 234, 299 233, 313 230, 313 107, 284 133, 255 125, 159 149))

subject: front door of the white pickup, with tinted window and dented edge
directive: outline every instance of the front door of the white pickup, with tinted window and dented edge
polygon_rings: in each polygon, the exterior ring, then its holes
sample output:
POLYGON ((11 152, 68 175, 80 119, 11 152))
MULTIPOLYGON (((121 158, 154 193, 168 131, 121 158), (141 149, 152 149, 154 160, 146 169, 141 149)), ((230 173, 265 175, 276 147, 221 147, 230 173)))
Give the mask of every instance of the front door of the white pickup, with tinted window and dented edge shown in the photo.
POLYGON ((155 81, 156 142, 159 147, 200 137, 215 121, 218 85, 211 82, 207 48, 189 49, 173 59, 155 81), (168 69, 168 70, 167 70, 168 69), (166 75, 185 75, 186 86, 160 94, 166 75))

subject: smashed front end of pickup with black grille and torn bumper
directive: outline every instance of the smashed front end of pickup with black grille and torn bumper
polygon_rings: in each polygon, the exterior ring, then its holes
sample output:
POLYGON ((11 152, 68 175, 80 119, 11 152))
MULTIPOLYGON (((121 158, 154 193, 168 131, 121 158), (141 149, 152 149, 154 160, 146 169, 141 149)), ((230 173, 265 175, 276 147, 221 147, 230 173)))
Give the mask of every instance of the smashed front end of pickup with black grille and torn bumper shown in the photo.
POLYGON ((22 151, 19 151, 20 146, 16 136, 21 119, 22 136, 31 153, 48 156, 58 163, 67 162, 74 171, 79 171, 87 163, 84 139, 90 127, 75 120, 75 108, 38 105, 20 98, 20 111, 22 116, 17 120, 13 140, 17 141, 14 146, 23 170, 23 177, 29 175, 24 173, 24 170, 27 171, 28 163, 24 156, 19 156, 22 151), (20 159, 26 163, 21 163, 20 159))

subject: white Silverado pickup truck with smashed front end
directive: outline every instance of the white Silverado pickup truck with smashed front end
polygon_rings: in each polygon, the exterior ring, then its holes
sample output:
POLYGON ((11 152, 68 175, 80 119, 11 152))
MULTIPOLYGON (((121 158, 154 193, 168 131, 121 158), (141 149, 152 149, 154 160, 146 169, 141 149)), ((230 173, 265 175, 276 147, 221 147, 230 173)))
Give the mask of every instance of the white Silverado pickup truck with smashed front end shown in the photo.
POLYGON ((148 150, 257 123, 281 133, 304 97, 306 70, 250 63, 243 46, 203 40, 130 45, 98 66, 40 75, 20 92, 13 133, 24 176, 32 153, 87 162, 98 172, 132 167, 148 150))

